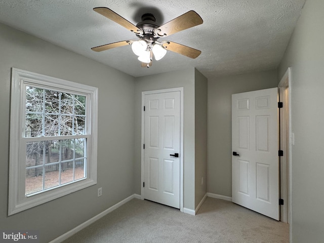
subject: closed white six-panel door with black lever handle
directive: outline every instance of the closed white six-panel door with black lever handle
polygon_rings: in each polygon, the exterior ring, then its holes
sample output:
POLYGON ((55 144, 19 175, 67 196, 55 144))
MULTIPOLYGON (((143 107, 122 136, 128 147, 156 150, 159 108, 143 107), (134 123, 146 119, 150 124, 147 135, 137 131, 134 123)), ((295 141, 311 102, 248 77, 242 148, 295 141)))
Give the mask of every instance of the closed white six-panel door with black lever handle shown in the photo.
POLYGON ((180 91, 147 94, 144 103, 144 198, 179 209, 180 91))

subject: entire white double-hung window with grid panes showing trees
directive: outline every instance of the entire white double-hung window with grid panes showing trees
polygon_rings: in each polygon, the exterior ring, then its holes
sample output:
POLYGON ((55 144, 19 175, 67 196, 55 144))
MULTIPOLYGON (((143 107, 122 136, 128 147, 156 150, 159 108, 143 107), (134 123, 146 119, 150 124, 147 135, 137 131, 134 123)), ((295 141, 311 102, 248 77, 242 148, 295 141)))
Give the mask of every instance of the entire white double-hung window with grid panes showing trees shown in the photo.
POLYGON ((12 69, 12 215, 97 183, 98 88, 12 69))

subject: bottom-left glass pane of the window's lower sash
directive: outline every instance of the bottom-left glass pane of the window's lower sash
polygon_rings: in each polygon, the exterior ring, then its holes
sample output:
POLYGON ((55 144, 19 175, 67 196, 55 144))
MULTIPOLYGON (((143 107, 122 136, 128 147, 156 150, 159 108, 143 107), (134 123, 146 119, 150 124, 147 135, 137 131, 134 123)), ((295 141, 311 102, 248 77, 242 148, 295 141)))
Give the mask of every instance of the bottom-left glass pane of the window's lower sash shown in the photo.
POLYGON ((42 168, 34 168, 34 169, 26 170, 25 195, 43 190, 43 175, 36 173, 36 171, 43 172, 42 168))

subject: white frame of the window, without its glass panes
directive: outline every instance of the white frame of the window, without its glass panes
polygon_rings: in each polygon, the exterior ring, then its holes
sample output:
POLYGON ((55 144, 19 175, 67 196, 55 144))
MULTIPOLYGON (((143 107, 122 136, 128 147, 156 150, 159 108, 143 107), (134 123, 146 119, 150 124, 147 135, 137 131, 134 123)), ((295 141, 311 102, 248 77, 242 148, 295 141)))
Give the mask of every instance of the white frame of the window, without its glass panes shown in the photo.
MULTIPOLYGON (((97 184, 98 88, 12 68, 8 215, 41 205, 97 184), (25 118, 25 86, 59 90, 86 96, 87 177, 67 185, 25 195, 26 149, 22 146, 25 118)), ((61 138, 61 137, 60 137, 61 138)))

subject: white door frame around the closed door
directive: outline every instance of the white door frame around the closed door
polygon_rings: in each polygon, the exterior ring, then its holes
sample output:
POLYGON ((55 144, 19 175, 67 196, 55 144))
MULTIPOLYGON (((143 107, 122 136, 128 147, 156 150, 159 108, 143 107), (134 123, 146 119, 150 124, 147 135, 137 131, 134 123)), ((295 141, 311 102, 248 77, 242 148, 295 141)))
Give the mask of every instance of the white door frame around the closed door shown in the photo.
POLYGON ((144 200, 144 105, 145 105, 145 95, 159 94, 159 93, 168 93, 180 91, 180 211, 183 212, 183 87, 165 89, 165 90, 152 90, 152 91, 143 91, 142 92, 142 151, 141 151, 141 199, 144 200))

